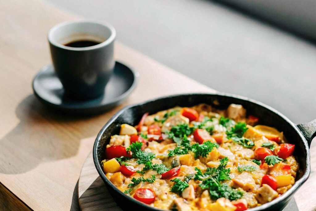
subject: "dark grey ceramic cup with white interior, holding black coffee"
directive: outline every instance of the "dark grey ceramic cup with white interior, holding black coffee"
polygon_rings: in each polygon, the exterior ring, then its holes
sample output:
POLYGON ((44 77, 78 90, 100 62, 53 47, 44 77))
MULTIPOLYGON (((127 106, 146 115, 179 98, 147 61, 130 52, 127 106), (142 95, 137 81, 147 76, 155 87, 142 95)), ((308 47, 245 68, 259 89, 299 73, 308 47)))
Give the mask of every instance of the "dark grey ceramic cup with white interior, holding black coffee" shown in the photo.
POLYGON ((104 94, 115 64, 115 34, 111 25, 90 20, 62 22, 48 32, 52 63, 67 97, 88 100, 104 94), (65 46, 82 40, 99 44, 65 46))

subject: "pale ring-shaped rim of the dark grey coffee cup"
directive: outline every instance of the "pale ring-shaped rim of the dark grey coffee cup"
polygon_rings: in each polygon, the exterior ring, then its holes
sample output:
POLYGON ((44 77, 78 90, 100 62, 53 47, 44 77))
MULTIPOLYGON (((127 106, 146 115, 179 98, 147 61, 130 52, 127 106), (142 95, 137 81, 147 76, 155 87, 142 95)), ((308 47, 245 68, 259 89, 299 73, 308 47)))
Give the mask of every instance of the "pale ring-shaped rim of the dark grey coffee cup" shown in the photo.
POLYGON ((76 21, 64 21, 64 22, 61 22, 61 23, 58 23, 57 25, 55 25, 54 27, 52 27, 49 31, 48 31, 48 34, 47 34, 47 39, 48 41, 56 46, 56 47, 59 47, 59 48, 63 48, 65 50, 71 50, 71 51, 87 51, 87 50, 94 50, 94 49, 98 49, 98 48, 101 48, 101 47, 104 47, 110 43, 112 43, 115 39, 115 36, 116 36, 116 31, 115 31, 115 28, 109 24, 109 23, 106 23, 106 22, 102 22, 102 21, 97 21, 97 20, 90 20, 90 19, 85 19, 85 20, 76 20, 76 21), (108 39, 106 39, 105 41, 97 44, 97 45, 94 45, 94 46, 89 46, 89 47, 80 47, 80 48, 77 48, 77 47, 69 47, 69 46, 64 46, 56 41, 54 41, 54 39, 52 39, 52 34, 54 33, 54 31, 60 27, 63 27, 63 26, 66 26, 66 25, 70 25, 70 24, 73 24, 73 23, 97 23, 97 24, 100 24, 100 25, 103 25, 105 27, 107 27, 110 31, 111 31, 111 35, 108 39))

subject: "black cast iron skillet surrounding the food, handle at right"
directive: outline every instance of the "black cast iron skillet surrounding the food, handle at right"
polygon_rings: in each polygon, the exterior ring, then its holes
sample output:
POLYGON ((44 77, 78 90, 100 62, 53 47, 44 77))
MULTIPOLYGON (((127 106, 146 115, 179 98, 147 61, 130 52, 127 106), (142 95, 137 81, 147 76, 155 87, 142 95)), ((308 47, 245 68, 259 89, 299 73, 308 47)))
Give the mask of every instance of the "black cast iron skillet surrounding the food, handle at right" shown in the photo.
POLYGON ((300 164, 295 184, 277 199, 250 210, 275 211, 283 209, 293 197, 296 190, 309 177, 309 146, 311 140, 316 135, 316 120, 305 124, 295 125, 280 112, 264 105, 261 102, 231 94, 182 94, 166 96, 140 104, 127 106, 114 115, 99 132, 93 147, 94 164, 114 201, 123 208, 123 210, 131 210, 131 208, 133 210, 161 210, 149 207, 144 203, 125 195, 105 177, 103 168, 101 167, 101 160, 104 159, 103 154, 105 152, 105 147, 109 142, 111 135, 119 134, 120 125, 122 123, 137 125, 142 115, 146 112, 154 114, 158 111, 170 109, 175 106, 190 107, 199 103, 210 104, 222 109, 226 109, 231 103, 241 104, 245 109, 247 109, 248 115, 256 115, 259 117, 259 124, 276 127, 279 131, 284 132, 289 143, 295 144, 294 155, 300 164))

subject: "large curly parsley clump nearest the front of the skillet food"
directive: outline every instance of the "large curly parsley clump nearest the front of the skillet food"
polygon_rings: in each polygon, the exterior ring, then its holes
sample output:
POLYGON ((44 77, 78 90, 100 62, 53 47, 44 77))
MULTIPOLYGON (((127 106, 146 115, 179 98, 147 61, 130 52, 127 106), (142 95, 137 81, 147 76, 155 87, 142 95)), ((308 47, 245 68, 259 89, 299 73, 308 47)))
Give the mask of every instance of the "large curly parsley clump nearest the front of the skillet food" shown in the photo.
POLYGON ((225 197, 233 201, 240 199, 243 195, 242 191, 229 187, 227 183, 222 183, 225 180, 230 180, 230 169, 225 168, 227 163, 228 158, 225 157, 220 160, 220 165, 217 168, 207 168, 204 174, 201 170, 195 168, 197 173, 194 179, 202 181, 199 186, 202 189, 209 189, 210 197, 214 200, 225 197))

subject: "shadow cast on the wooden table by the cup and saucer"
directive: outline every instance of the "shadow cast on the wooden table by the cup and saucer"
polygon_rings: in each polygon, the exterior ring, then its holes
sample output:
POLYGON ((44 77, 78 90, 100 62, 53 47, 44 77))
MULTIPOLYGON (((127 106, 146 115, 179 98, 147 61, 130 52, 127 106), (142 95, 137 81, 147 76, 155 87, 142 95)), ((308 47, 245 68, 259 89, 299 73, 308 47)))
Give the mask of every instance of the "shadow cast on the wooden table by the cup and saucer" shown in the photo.
POLYGON ((47 109, 33 95, 19 103, 15 114, 19 124, 0 140, 0 173, 24 173, 42 162, 73 157, 80 140, 95 135, 88 127, 92 117, 47 109))

